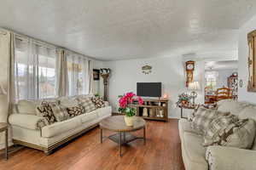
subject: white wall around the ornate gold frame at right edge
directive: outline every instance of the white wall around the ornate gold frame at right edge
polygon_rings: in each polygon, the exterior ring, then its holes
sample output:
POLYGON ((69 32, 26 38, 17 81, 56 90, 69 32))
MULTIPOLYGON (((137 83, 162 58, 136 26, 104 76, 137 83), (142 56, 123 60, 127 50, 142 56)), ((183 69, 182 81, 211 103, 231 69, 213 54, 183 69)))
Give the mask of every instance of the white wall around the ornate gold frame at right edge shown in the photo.
POLYGON ((256 93, 247 92, 248 81, 248 45, 247 34, 256 29, 256 15, 248 20, 239 30, 239 45, 238 45, 238 77, 243 81, 243 87, 238 88, 238 99, 247 100, 256 103, 256 93))

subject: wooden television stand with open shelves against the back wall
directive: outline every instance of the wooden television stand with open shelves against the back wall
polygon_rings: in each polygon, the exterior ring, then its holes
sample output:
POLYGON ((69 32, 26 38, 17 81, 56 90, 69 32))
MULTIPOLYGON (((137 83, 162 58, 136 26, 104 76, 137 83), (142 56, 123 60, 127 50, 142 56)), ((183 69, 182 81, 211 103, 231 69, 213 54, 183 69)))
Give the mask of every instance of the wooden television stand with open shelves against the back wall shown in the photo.
POLYGON ((168 122, 168 99, 143 99, 144 104, 139 105, 135 100, 132 107, 137 109, 137 116, 144 119, 168 122))

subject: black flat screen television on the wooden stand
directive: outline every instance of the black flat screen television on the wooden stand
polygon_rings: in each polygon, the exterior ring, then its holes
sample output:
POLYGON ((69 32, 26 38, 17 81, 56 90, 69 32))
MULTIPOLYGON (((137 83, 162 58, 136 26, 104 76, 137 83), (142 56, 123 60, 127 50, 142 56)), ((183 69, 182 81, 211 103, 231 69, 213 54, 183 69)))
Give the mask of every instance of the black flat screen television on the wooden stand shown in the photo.
POLYGON ((137 96, 143 97, 161 97, 161 82, 137 82, 137 96))

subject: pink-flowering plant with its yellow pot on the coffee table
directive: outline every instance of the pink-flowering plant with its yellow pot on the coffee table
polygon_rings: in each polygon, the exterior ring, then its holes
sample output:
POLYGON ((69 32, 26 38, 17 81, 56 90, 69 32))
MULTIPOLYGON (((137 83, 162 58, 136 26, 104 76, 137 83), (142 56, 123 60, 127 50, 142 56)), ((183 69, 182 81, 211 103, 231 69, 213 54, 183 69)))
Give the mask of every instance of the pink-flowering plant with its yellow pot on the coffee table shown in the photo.
POLYGON ((125 123, 127 126, 133 126, 133 119, 136 115, 136 109, 131 107, 134 99, 137 99, 138 103, 143 105, 143 99, 132 92, 119 96, 119 111, 125 113, 125 123))

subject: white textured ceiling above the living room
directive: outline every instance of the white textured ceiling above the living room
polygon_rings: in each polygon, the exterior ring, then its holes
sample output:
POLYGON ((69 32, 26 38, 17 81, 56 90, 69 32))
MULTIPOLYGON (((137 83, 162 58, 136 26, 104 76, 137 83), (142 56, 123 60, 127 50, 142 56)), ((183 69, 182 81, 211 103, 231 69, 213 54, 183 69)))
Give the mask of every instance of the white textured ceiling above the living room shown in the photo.
POLYGON ((1 0, 0 26, 102 60, 236 58, 253 14, 255 0, 1 0))

